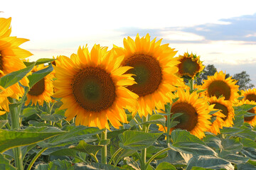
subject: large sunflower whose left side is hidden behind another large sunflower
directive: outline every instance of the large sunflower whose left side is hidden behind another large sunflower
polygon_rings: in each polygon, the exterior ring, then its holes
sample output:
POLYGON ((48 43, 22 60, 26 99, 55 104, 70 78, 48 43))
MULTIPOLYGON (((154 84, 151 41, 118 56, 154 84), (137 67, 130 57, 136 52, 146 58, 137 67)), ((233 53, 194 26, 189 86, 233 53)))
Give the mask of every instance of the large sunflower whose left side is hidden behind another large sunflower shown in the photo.
POLYGON ((114 50, 124 55, 123 66, 134 67, 127 73, 134 74, 137 84, 127 89, 139 95, 137 111, 140 117, 151 114, 157 103, 166 101, 166 95, 171 95, 176 86, 183 84, 176 76, 179 63, 174 58, 176 51, 169 44, 161 45, 161 40, 150 40, 149 34, 142 38, 137 35, 135 40, 124 38, 124 48, 114 45, 114 50))

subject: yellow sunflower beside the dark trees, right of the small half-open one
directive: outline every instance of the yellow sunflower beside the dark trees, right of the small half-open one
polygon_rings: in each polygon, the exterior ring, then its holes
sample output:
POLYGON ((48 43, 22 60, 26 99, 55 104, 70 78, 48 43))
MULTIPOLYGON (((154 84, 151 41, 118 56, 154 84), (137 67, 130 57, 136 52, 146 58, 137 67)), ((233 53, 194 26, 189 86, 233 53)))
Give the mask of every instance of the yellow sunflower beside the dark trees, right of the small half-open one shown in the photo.
POLYGON ((225 97, 225 100, 231 103, 235 102, 239 96, 238 85, 235 85, 237 81, 228 77, 225 79, 225 74, 220 72, 215 72, 213 76, 208 76, 207 80, 203 81, 202 89, 206 89, 206 96, 220 96, 225 97))

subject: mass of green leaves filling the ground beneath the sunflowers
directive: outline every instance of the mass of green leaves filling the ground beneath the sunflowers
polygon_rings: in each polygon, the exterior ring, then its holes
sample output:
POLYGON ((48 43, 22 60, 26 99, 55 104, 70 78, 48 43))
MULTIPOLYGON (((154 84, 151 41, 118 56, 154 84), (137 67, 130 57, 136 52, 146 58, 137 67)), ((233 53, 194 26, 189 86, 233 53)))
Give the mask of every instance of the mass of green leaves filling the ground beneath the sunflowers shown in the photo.
MULTIPOLYGON (((39 60, 27 63, 27 68, 0 78, 5 88, 22 79, 39 60)), ((33 73, 31 85, 36 84, 52 69, 49 66, 33 73)), ((22 99, 21 99, 22 100, 22 99)), ((10 105, 15 108, 19 103, 10 105)), ((21 130, 11 130, 10 114, 0 118, 0 169, 16 169, 14 148, 21 147, 24 169, 256 169, 256 128, 244 123, 244 116, 252 105, 237 106, 232 128, 223 128, 220 135, 206 132, 199 140, 186 130, 174 130, 171 135, 160 132, 158 125, 166 125, 165 115, 154 113, 147 121, 132 118, 122 129, 111 129, 107 140, 104 130, 75 126, 65 120, 62 103, 44 103, 43 106, 22 106, 21 130), (142 131, 146 128, 146 132, 142 131), (170 142, 166 143, 166 136, 170 142), (99 152, 107 145, 107 162, 100 163, 99 152), (142 153, 146 149, 146 157, 142 153)), ((178 113, 179 114, 179 113, 178 113)), ((176 115, 179 116, 179 115, 176 115)), ((176 125, 172 116, 172 125, 176 125)))

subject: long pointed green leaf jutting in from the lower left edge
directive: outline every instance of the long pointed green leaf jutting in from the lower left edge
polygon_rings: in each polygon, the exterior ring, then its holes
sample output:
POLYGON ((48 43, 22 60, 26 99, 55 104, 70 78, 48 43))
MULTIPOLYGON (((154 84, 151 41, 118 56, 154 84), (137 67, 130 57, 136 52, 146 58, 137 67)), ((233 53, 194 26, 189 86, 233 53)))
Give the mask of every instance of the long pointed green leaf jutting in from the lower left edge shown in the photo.
POLYGON ((1 130, 0 129, 0 152, 14 147, 31 145, 46 140, 50 137, 60 135, 63 131, 51 132, 56 128, 29 127, 26 130, 1 130))

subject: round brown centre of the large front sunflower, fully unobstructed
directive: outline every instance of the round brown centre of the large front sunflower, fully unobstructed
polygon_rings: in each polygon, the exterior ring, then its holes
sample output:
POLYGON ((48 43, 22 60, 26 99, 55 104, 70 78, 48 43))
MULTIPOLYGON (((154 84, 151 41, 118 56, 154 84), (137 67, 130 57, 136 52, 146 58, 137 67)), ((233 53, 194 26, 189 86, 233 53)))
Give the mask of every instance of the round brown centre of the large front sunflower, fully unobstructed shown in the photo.
POLYGON ((98 67, 87 67, 76 74, 72 89, 75 100, 86 111, 104 111, 116 98, 110 74, 98 67))

